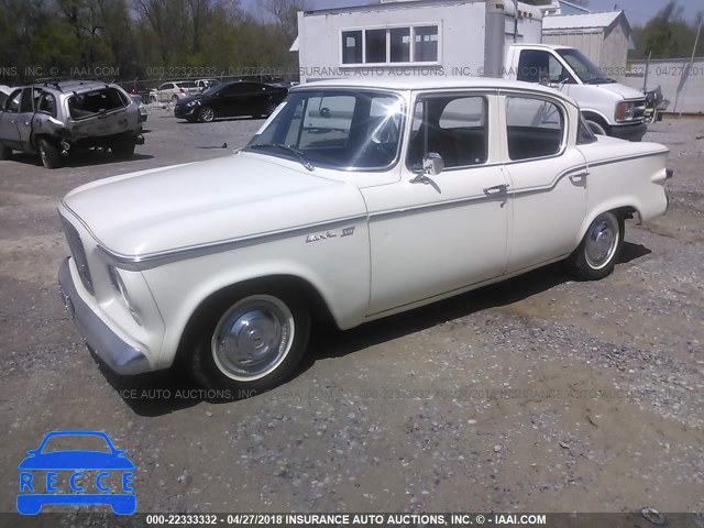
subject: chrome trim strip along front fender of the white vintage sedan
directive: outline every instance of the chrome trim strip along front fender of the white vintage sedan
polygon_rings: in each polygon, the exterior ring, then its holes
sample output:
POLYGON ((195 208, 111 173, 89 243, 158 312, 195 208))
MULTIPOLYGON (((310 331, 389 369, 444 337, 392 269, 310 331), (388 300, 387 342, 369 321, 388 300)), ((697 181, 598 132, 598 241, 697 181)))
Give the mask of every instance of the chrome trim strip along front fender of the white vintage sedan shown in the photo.
MULTIPOLYGON (((122 270, 143 271, 164 265, 168 262, 175 262, 183 258, 193 258, 195 256, 220 253, 222 251, 237 250, 256 245, 274 240, 287 239, 296 235, 309 234, 311 230, 333 229, 339 227, 350 227, 350 222, 366 220, 366 215, 355 215, 353 217, 344 217, 324 222, 309 223, 296 228, 282 229, 265 233, 257 233, 248 237, 239 237, 237 239, 221 240, 217 242, 208 242, 205 244, 196 244, 184 248, 176 248, 167 251, 155 253, 146 253, 144 255, 127 255, 108 249, 102 242, 98 241, 98 251, 113 265, 122 270)), ((305 241, 304 241, 305 242, 305 241)))

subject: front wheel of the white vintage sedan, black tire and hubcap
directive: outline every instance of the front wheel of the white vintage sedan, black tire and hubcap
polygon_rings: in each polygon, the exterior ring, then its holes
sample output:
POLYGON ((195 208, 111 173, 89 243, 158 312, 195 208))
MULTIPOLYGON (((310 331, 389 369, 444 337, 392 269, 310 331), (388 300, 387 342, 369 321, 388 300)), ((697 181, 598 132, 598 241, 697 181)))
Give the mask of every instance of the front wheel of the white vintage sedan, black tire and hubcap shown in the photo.
POLYGON ((191 364, 196 380, 227 389, 227 399, 242 399, 294 374, 308 345, 310 314, 295 289, 248 287, 217 301, 200 328, 191 364))

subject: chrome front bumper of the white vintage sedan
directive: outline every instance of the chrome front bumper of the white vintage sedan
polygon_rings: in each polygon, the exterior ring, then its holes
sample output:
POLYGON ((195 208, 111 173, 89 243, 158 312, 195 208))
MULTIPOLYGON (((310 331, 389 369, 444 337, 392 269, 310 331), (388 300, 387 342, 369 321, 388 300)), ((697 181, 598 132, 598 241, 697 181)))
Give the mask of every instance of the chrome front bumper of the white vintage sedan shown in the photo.
POLYGON ((58 268, 58 287, 78 332, 110 369, 124 375, 152 371, 146 356, 118 337, 80 298, 68 258, 58 268))

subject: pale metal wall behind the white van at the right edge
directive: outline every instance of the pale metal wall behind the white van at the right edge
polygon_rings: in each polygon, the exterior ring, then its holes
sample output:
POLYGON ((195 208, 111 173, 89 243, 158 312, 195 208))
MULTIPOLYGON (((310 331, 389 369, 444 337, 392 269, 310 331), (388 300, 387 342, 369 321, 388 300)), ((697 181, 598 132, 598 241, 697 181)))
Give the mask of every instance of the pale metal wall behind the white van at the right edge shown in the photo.
MULTIPOLYGON (((694 59, 691 72, 689 65, 689 58, 650 61, 646 89, 660 86, 663 97, 670 101, 668 112, 704 113, 704 57, 694 59)), ((628 67, 630 73, 623 82, 642 90, 647 61, 630 61, 628 67)))

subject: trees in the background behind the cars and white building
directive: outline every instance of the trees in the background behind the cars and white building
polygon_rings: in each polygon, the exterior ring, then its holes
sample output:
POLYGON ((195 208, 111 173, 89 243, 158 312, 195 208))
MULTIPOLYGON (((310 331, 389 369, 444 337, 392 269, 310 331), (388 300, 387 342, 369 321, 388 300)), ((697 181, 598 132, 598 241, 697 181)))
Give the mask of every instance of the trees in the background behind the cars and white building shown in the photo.
MULTIPOLYGON (((250 12, 239 0, 0 0, 0 84, 256 72, 295 78, 298 57, 288 50, 296 13, 310 6, 306 0, 257 6, 258 12, 250 12)), ((634 28, 631 58, 691 55, 697 24, 670 0, 646 25, 634 28)), ((703 55, 704 35, 697 46, 703 55)))

